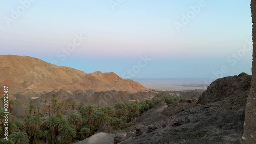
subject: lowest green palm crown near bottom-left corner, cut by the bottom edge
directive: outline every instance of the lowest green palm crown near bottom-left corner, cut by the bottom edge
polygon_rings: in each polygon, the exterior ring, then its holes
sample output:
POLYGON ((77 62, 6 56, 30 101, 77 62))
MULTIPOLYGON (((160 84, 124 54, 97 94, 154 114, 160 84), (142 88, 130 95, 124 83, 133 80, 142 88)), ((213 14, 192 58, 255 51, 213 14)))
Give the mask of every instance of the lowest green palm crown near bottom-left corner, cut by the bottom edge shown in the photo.
POLYGON ((25 132, 15 132, 10 135, 10 139, 17 144, 28 144, 29 143, 29 137, 25 132))

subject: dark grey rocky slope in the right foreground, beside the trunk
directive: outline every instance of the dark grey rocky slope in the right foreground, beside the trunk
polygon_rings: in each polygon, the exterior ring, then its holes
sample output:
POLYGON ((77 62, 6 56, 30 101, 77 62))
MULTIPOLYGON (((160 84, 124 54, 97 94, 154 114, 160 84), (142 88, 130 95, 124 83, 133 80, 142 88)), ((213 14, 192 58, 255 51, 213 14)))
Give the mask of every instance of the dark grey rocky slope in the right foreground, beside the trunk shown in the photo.
POLYGON ((217 79, 197 102, 186 98, 169 105, 155 114, 158 122, 139 122, 132 132, 117 134, 114 143, 241 143, 250 82, 245 73, 217 79))

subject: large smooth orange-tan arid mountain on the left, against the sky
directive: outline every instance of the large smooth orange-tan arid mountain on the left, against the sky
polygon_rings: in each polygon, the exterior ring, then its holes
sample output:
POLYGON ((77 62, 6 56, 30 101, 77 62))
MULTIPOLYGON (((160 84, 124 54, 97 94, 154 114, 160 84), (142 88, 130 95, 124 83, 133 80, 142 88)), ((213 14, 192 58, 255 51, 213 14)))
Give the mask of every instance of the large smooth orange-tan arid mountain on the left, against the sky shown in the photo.
POLYGON ((115 73, 84 73, 69 67, 57 66, 37 58, 0 55, 0 83, 9 87, 9 93, 38 96, 45 92, 65 89, 127 91, 137 93, 147 89, 140 83, 120 78, 115 73))

